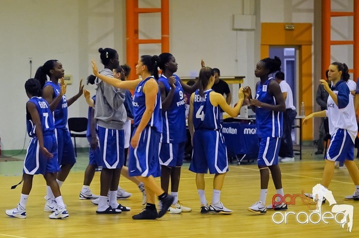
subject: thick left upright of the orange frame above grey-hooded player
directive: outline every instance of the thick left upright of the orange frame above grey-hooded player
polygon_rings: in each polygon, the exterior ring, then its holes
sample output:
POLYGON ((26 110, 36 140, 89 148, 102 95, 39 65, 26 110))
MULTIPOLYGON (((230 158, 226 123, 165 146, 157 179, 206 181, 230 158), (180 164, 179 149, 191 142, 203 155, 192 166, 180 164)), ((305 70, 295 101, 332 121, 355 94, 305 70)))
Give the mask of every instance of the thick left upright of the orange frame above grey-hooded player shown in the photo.
POLYGON ((138 13, 135 11, 137 7, 138 0, 126 0, 126 62, 132 68, 130 80, 137 78, 133 70, 138 61, 138 47, 135 43, 138 38, 138 13))

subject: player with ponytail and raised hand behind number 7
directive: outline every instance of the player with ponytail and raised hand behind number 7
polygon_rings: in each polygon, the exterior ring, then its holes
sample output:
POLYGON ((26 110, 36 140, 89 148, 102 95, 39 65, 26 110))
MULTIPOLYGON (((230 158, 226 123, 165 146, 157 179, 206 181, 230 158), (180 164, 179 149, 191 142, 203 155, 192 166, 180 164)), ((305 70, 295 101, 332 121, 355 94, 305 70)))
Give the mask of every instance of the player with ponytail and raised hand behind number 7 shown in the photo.
MULTIPOLYGON (((82 80, 80 81, 79 92, 67 100, 66 95, 63 95, 59 102, 55 98, 60 93, 59 79, 63 78, 64 69, 62 64, 57 60, 48 60, 43 66, 40 66, 36 73, 35 78, 40 81, 43 98, 48 104, 57 103, 54 111, 54 124, 55 136, 57 140, 58 164, 61 170, 57 173, 57 183, 61 187, 69 174, 72 166, 75 164, 75 154, 73 144, 68 131, 67 125, 67 107, 71 106, 82 95, 82 80), (49 81, 47 81, 47 76, 49 81)), ((45 212, 56 211, 56 203, 51 188, 46 186, 46 204, 44 207, 45 212)))

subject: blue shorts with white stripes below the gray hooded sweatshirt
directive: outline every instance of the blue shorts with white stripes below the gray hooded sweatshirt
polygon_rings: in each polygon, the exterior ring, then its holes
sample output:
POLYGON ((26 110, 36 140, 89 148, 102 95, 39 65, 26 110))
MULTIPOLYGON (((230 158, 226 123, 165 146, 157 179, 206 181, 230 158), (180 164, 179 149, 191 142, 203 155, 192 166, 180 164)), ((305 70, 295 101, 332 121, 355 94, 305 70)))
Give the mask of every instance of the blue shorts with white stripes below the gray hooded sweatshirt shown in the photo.
POLYGON ((100 142, 100 160, 103 168, 121 169, 125 162, 124 130, 97 125, 100 142))

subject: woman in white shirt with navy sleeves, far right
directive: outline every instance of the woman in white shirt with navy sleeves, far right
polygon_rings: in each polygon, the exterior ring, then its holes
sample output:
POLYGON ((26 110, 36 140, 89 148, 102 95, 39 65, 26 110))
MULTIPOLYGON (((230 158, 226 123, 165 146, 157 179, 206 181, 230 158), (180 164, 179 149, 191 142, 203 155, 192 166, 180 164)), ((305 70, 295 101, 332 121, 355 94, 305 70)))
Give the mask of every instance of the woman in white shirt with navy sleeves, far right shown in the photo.
POLYGON ((349 79, 349 70, 346 64, 334 62, 329 66, 328 82, 321 79, 324 89, 329 93, 328 109, 312 113, 303 119, 306 124, 313 117, 328 117, 331 142, 326 155, 322 182, 320 184, 319 199, 328 191, 334 174, 335 162, 344 162, 355 184, 353 195, 344 197, 347 200, 359 200, 359 170, 354 162, 354 140, 357 137, 358 125, 356 122, 353 97, 346 82, 349 79))

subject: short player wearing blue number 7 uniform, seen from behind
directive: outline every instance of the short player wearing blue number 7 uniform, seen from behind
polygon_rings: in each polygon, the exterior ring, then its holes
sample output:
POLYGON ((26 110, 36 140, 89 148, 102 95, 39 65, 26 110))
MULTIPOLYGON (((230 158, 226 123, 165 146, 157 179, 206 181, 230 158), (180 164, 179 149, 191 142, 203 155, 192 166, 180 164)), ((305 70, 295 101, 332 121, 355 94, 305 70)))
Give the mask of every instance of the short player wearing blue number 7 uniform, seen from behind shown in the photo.
MULTIPOLYGON (((29 101, 26 103, 26 127, 31 137, 23 166, 23 185, 20 202, 16 208, 6 210, 9 217, 26 218, 26 203, 32 187, 34 174, 42 174, 46 183, 50 186, 58 205, 57 211, 49 215, 51 219, 67 218, 68 212, 63 203, 56 172, 60 170, 57 164, 57 143, 54 135, 54 123, 52 111, 48 103, 41 98, 41 87, 37 79, 28 79, 25 83, 26 95, 29 101)), ((66 84, 63 79, 57 98, 66 93, 66 84)))

